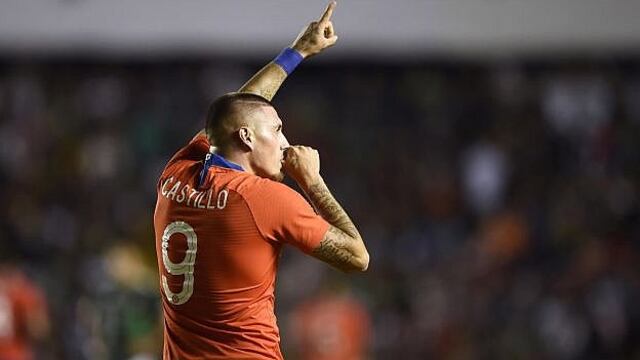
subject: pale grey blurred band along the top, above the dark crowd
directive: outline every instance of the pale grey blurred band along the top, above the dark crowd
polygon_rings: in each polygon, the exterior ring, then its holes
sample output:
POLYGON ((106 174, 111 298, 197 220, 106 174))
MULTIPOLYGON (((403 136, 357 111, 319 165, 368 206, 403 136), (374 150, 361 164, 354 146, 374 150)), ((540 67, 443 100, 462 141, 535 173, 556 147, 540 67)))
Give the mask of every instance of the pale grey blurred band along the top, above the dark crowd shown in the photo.
MULTIPOLYGON (((324 0, 3 0, 8 55, 262 56, 324 0)), ((640 1, 343 0, 332 56, 553 55, 640 49, 640 1)))

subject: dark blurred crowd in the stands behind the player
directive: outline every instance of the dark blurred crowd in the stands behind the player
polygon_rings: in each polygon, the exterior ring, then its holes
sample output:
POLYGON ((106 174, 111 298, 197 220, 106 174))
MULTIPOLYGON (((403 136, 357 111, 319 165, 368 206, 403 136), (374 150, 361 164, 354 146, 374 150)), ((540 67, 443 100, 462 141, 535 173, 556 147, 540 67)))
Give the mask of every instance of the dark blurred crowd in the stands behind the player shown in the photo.
MULTIPOLYGON (((259 65, 0 63, 0 358, 158 358, 157 178, 259 65)), ((640 358, 639 61, 311 62, 274 103, 371 254, 285 250, 287 358, 640 358)))

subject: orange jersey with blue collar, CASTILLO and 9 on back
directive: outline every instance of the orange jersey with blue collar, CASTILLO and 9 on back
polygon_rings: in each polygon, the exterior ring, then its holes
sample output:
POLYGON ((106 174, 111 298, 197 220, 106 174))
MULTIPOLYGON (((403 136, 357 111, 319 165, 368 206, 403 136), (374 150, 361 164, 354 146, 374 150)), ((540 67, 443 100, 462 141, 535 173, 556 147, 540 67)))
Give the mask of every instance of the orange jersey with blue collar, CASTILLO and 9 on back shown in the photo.
POLYGON ((206 137, 197 136, 158 181, 163 357, 281 359, 274 314, 280 250, 288 243, 311 252, 329 224, 284 184, 215 164, 200 179, 208 151, 206 137))

